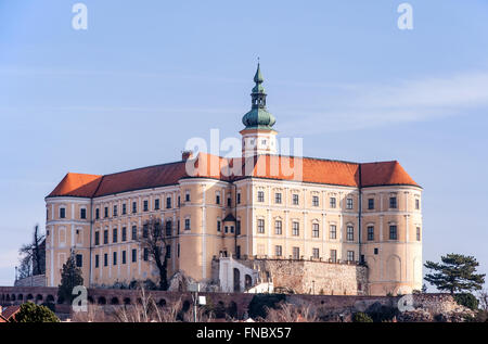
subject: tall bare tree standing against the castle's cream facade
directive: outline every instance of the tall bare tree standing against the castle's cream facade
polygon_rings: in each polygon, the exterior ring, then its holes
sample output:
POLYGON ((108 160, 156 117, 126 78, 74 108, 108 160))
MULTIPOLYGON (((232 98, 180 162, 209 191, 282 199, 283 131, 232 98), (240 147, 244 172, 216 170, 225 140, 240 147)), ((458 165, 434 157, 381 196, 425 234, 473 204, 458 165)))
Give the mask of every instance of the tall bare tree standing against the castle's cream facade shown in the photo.
MULTIPOLYGON (((169 225, 168 225, 169 224, 169 225)), ((165 231, 159 219, 151 218, 144 222, 137 241, 142 249, 143 258, 153 264, 159 272, 159 289, 168 289, 168 239, 171 237, 171 222, 165 231)))

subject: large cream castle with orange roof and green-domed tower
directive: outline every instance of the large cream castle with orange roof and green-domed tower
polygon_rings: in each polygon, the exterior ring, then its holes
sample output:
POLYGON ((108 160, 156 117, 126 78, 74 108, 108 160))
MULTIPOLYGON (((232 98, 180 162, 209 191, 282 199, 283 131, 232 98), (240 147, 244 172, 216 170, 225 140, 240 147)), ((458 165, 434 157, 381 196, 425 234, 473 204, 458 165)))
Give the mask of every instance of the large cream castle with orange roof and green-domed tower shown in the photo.
POLYGON ((68 173, 46 198, 47 285, 59 285, 72 251, 87 286, 157 279, 136 240, 157 218, 169 277, 220 278, 222 290, 244 291, 261 269, 284 281, 277 273, 290 277, 299 267, 298 280, 312 282, 313 293, 420 290, 422 188, 396 161, 278 154, 259 65, 254 81, 242 156, 183 152, 179 162, 112 175, 68 173), (355 285, 330 286, 346 275, 355 285))

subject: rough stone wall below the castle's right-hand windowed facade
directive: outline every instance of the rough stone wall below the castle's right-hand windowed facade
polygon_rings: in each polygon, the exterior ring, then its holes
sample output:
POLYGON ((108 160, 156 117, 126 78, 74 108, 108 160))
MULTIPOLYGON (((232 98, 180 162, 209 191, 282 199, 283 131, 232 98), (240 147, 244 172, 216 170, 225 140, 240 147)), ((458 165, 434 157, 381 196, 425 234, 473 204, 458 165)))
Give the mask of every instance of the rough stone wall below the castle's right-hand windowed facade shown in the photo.
POLYGON ((367 295, 368 268, 355 264, 320 260, 249 259, 240 263, 259 270, 262 281, 268 277, 274 289, 295 294, 367 295))

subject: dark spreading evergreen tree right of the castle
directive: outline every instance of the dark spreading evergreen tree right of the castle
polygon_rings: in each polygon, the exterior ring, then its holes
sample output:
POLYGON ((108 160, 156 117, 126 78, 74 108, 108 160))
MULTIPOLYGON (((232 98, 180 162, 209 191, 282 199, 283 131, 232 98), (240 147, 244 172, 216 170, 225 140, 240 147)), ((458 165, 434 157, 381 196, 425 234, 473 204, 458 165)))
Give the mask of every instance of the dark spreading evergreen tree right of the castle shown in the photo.
POLYGON ((425 280, 440 291, 471 292, 480 290, 485 283, 485 275, 475 273, 479 263, 472 256, 448 254, 440 257, 442 263, 426 262, 425 267, 433 270, 425 275, 425 280))

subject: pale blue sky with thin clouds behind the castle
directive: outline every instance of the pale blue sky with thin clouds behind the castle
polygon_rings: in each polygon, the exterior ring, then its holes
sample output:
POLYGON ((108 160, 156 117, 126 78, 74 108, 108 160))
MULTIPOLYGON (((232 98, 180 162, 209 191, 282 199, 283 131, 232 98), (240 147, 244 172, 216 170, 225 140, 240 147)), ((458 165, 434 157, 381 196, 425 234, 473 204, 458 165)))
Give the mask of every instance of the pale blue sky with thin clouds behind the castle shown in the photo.
POLYGON ((0 0, 0 285, 67 171, 177 161, 235 136, 260 56, 268 109, 307 156, 398 160, 425 189, 424 258, 488 271, 488 3, 0 0))

